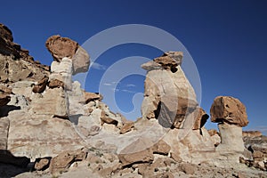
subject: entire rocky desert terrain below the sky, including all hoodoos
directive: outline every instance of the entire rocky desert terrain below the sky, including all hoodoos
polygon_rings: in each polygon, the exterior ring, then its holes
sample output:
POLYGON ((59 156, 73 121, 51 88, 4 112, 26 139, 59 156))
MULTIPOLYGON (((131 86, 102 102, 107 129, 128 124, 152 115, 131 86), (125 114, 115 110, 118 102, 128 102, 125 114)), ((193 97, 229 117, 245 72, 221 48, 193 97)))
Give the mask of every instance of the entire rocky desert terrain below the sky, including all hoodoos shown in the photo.
POLYGON ((218 96, 216 130, 182 71, 182 52, 166 52, 146 69, 142 117, 113 113, 100 93, 72 76, 90 55, 68 37, 45 43, 44 66, 0 24, 0 177, 266 177, 267 139, 248 125, 239 99, 218 96))

